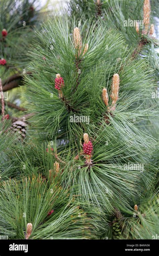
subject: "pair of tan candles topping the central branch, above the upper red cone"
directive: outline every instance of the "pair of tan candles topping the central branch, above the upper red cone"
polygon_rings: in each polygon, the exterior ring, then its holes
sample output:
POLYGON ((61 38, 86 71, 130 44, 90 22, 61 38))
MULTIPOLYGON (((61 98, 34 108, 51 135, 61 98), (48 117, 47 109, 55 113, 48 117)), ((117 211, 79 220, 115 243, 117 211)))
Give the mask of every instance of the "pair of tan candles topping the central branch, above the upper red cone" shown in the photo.
MULTIPOLYGON (((82 38, 81 38, 80 29, 77 27, 73 29, 73 43, 74 43, 75 49, 77 49, 78 51, 78 57, 79 57, 82 53, 82 38)), ((88 43, 86 43, 83 49, 82 56, 84 56, 84 54, 87 52, 88 46, 89 46, 88 43)))

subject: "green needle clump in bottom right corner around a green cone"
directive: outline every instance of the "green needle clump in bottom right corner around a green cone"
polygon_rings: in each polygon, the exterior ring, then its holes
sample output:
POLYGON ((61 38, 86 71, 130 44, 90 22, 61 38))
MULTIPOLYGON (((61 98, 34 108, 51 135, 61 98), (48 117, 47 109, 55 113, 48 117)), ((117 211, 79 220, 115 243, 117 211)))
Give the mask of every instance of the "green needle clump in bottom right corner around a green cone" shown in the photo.
POLYGON ((117 212, 108 216, 107 231, 102 239, 157 239, 158 232, 158 195, 157 192, 144 191, 139 198, 134 198, 134 210, 129 206, 126 212, 117 212))

